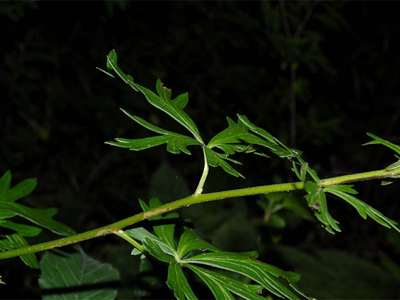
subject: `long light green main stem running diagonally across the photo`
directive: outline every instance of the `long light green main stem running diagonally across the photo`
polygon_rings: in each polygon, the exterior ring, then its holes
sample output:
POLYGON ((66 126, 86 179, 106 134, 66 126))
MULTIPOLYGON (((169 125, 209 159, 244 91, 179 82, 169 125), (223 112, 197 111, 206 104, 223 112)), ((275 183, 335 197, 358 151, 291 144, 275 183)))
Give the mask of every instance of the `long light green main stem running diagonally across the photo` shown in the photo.
MULTIPOLYGON (((376 171, 369 171, 363 173, 355 173, 349 174, 344 176, 338 177, 331 177, 321 180, 322 186, 334 185, 334 184, 343 184, 348 182, 355 182, 355 181, 363 181, 363 180, 371 180, 371 179, 378 179, 378 178, 395 178, 396 175, 394 174, 393 170, 376 170, 376 171)), ((240 196, 248 196, 248 195, 255 195, 255 194, 262 194, 262 193, 271 193, 271 192, 278 192, 278 191, 290 191, 296 189, 303 189, 303 182, 291 182, 291 183, 280 183, 280 184, 271 184, 271 185, 261 185, 261 186, 253 186, 253 187, 246 187, 246 188, 239 188, 239 189, 232 189, 232 190, 225 190, 225 191, 218 191, 218 192, 210 192, 210 193, 195 193, 188 197, 181 198, 179 200, 169 202, 163 204, 159 207, 149 209, 145 212, 140 212, 130 217, 124 218, 120 221, 115 223, 96 228, 93 230, 89 230, 86 232, 74 234, 71 236, 63 237, 60 239, 55 239, 31 246, 27 246, 24 248, 17 248, 9 251, 0 252, 0 259, 15 257, 27 253, 34 253, 43 250, 52 249, 55 247, 62 247, 69 244, 73 244, 76 242, 80 242, 82 240, 103 236, 109 233, 115 233, 121 230, 122 228, 135 224, 139 221, 145 220, 151 216, 159 215, 161 213, 165 213, 183 206, 188 206, 195 203, 202 203, 207 201, 214 201, 224 198, 232 198, 232 197, 240 197, 240 196)), ((117 234, 117 233, 115 233, 117 234)), ((119 234, 117 234, 119 235, 119 234)), ((126 239, 125 234, 119 235, 122 238, 126 239)), ((127 240, 127 239, 126 239, 127 240)), ((128 240, 132 243, 131 240, 128 240)), ((136 241, 134 241, 136 242, 136 241)), ((137 243, 137 242, 136 242, 137 243)), ((139 243, 134 244, 133 246, 136 248, 137 245, 141 246, 139 243)), ((138 248, 139 249, 139 248, 138 248)), ((140 249, 139 249, 140 250, 140 249)))

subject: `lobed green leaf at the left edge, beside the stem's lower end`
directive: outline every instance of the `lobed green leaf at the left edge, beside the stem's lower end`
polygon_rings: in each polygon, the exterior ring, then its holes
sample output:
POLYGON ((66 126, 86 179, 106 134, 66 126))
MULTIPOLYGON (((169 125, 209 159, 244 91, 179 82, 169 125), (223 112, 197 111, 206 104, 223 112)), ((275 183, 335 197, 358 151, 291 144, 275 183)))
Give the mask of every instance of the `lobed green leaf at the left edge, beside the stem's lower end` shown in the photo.
MULTIPOLYGON (((29 244, 24 237, 36 236, 41 231, 38 227, 18 224, 8 220, 16 215, 30 220, 44 228, 50 229, 54 233, 60 235, 70 235, 75 233, 75 231, 67 225, 52 218, 52 216, 57 212, 56 208, 31 208, 16 202, 31 193, 31 191, 36 187, 36 179, 25 179, 12 188, 10 188, 10 183, 11 172, 6 171, 0 178, 0 227, 7 228, 7 230, 11 230, 12 233, 0 233, 0 251, 28 246, 29 244)), ((33 253, 25 254, 20 257, 23 262, 30 267, 39 267, 36 256, 33 253)))

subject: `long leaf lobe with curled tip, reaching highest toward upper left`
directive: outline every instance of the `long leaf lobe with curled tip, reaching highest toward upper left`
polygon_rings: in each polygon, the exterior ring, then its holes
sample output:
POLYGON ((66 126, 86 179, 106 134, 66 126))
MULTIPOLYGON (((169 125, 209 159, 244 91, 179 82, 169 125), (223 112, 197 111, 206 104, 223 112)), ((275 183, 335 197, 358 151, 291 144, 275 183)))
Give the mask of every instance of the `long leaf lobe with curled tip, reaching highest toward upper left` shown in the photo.
POLYGON ((186 106, 188 101, 187 93, 182 93, 176 98, 171 99, 171 90, 163 86, 160 79, 157 79, 155 88, 158 94, 155 94, 150 89, 134 82, 132 76, 126 75, 118 67, 116 61, 116 52, 115 50, 111 50, 107 55, 107 67, 112 68, 118 74, 118 76, 122 78, 122 80, 132 86, 135 90, 139 90, 140 92, 142 92, 151 105, 169 114, 181 125, 183 125, 187 130, 189 130, 196 140, 202 142, 197 126, 194 124, 193 120, 187 115, 187 113, 183 111, 183 108, 186 106))

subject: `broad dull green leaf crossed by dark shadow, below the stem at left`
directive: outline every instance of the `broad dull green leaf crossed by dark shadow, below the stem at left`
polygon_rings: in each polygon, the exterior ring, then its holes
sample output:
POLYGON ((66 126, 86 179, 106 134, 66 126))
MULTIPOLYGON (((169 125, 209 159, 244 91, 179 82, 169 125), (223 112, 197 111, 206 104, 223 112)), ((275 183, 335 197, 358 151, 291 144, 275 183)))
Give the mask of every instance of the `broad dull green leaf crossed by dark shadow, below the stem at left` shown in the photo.
POLYGON ((107 284, 119 280, 118 270, 77 248, 77 253, 61 256, 45 252, 41 257, 39 286, 43 299, 114 299, 117 290, 107 284))

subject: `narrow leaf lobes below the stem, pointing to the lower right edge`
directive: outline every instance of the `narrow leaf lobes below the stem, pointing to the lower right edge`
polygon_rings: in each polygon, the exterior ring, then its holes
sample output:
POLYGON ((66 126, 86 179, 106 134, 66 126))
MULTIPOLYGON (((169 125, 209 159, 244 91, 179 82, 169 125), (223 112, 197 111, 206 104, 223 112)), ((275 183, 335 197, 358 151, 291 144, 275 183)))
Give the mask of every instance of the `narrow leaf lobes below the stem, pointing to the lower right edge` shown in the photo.
POLYGON ((352 205, 355 209, 357 209, 358 213, 366 219, 367 216, 370 216, 379 224, 388 227, 394 228, 398 232, 400 232, 400 228, 397 226, 397 222, 389 219, 388 217, 384 216, 382 213, 377 211, 375 208, 372 208, 368 204, 362 202, 361 200, 354 197, 352 194, 357 193, 354 189, 351 188, 352 185, 330 185, 326 186, 323 190, 325 192, 329 192, 338 196, 339 198, 343 199, 350 205, 352 205))

